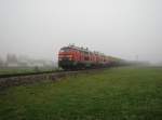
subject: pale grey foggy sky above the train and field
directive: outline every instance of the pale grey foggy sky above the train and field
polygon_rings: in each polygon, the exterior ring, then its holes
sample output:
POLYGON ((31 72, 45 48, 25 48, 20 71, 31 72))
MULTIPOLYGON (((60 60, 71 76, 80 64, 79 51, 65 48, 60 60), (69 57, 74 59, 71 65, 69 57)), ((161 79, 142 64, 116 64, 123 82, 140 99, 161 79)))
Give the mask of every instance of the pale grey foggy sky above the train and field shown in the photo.
POLYGON ((162 61, 162 0, 0 0, 0 55, 57 59, 69 43, 162 61))

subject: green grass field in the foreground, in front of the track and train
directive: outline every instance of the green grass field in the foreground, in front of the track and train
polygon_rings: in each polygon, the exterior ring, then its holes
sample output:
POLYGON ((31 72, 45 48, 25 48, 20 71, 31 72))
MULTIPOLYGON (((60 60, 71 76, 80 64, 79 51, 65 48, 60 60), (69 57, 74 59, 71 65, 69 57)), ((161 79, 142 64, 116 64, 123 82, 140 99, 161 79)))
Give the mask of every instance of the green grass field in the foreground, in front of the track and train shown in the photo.
POLYGON ((162 120, 162 68, 120 67, 0 92, 1 120, 162 120))

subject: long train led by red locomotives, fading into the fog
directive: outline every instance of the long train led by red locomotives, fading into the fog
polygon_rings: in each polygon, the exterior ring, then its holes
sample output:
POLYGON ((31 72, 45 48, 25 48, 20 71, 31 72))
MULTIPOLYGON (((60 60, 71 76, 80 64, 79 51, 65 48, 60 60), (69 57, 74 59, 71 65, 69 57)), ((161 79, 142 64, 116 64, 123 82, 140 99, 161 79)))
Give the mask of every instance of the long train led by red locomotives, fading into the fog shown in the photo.
POLYGON ((125 61, 92 52, 87 48, 64 46, 58 53, 58 66, 65 70, 89 69, 124 65, 125 61))

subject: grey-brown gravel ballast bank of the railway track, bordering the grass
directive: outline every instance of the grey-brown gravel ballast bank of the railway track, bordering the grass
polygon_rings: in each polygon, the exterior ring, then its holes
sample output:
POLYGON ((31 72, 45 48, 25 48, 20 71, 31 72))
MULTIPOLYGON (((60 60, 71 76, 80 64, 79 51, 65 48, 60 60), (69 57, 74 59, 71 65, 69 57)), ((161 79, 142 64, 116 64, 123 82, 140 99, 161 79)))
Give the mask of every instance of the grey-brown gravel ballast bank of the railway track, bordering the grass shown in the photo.
POLYGON ((58 81, 59 78, 76 76, 78 74, 89 74, 100 69, 76 70, 76 71, 44 71, 32 74, 16 74, 0 76, 0 90, 15 85, 26 85, 45 80, 58 81))

